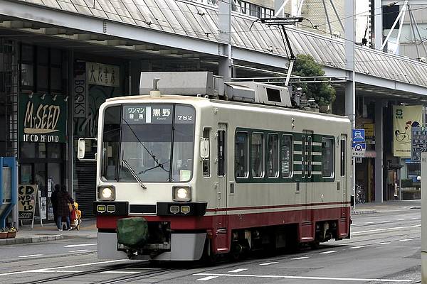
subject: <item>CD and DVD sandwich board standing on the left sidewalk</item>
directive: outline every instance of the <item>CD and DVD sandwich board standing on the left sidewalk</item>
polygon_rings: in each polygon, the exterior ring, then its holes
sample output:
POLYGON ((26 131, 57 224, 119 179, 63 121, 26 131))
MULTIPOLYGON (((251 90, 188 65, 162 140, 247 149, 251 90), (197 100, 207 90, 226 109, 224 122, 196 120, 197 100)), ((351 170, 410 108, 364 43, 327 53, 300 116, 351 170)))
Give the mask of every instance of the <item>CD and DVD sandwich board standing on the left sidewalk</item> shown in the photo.
POLYGON ((18 212, 19 219, 32 220, 36 212, 37 185, 19 185, 18 212))

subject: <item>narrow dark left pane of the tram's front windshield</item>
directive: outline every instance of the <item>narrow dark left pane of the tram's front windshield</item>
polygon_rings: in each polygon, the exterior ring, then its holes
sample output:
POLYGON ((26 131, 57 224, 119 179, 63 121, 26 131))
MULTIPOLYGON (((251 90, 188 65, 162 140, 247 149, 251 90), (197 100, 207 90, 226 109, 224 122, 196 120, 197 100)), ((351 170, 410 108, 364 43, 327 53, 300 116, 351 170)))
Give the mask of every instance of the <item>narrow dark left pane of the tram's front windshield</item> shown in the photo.
POLYGON ((105 180, 116 180, 121 111, 122 107, 120 106, 105 109, 104 129, 102 131, 102 177, 105 180))

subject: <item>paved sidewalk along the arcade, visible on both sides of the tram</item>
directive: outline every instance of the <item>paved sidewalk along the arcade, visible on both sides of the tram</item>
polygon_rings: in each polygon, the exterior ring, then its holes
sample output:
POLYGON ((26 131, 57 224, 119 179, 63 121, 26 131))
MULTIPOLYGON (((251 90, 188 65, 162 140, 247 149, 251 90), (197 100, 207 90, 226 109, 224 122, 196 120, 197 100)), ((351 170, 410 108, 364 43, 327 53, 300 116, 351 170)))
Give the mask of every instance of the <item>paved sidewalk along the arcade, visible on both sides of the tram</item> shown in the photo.
MULTIPOLYGON (((352 215, 374 214, 377 212, 401 211, 408 209, 421 209, 421 200, 393 200, 379 204, 373 202, 356 204, 356 209, 352 210, 352 215)), ((36 222, 34 222, 34 229, 31 229, 31 224, 24 224, 23 226, 19 226, 19 231, 15 238, 0 239, 0 246, 6 244, 26 244, 38 243, 41 241, 55 241, 58 239, 71 239, 75 236, 96 239, 96 219, 83 219, 82 224, 80 224, 79 231, 75 229, 72 231, 58 231, 56 225, 53 223, 47 223, 40 226, 40 223, 36 224, 36 222)))

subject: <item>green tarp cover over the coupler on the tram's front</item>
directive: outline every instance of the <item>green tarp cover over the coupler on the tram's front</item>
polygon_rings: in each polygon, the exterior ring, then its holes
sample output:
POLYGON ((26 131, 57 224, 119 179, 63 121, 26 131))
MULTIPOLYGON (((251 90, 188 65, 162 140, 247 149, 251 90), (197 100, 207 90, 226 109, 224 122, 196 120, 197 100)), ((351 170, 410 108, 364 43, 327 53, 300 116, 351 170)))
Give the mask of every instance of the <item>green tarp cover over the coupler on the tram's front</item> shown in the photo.
POLYGON ((125 246, 143 246, 148 239, 147 220, 142 217, 117 220, 117 242, 125 246))

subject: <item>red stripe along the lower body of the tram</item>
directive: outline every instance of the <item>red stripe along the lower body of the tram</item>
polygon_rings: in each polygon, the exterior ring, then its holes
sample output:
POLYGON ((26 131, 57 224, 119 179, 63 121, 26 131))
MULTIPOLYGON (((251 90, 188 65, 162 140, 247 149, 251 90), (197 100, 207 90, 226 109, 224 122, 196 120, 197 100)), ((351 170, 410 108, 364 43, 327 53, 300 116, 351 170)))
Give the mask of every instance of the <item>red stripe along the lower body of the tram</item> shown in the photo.
MULTIPOLYGON (((251 207, 250 209, 253 209, 251 207)), ((230 210, 231 211, 231 210, 230 210)), ((116 229, 117 219, 123 217, 97 217, 98 229, 116 229)), ((206 231, 211 238, 214 253, 227 253, 231 246, 231 231, 265 226, 296 224, 297 238, 300 242, 315 240, 316 222, 332 221, 337 224, 337 238, 349 235, 350 207, 322 209, 298 209, 279 212, 258 212, 248 214, 221 214, 209 216, 142 216, 148 222, 170 222, 174 231, 206 231)))

